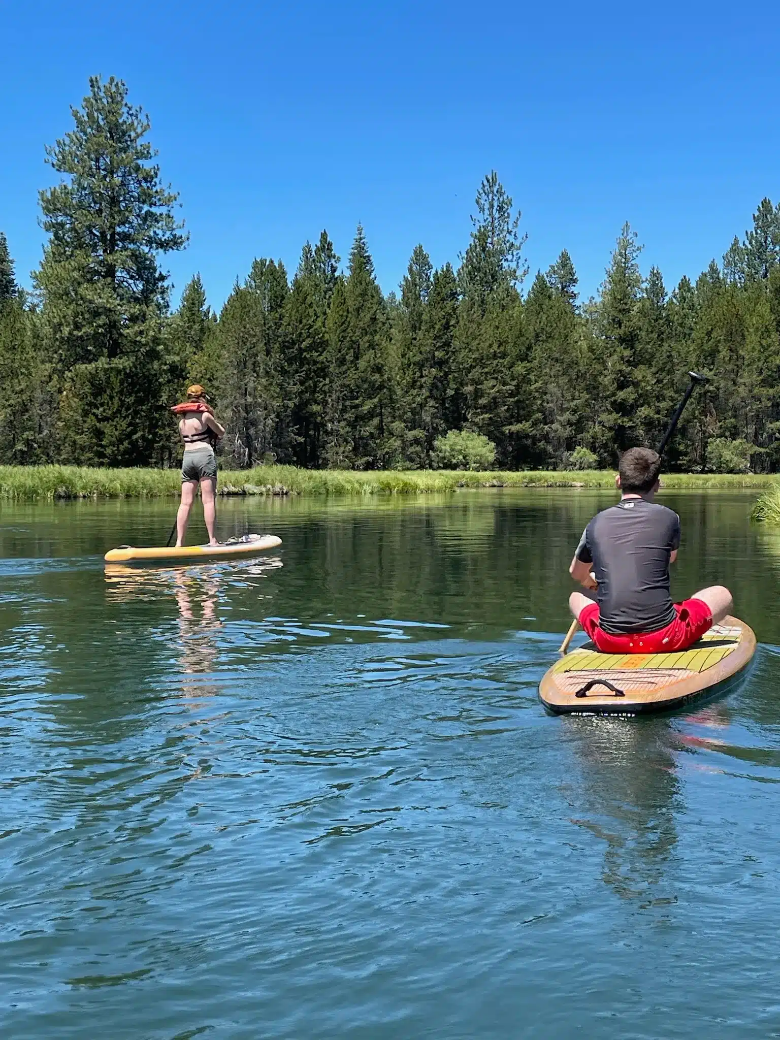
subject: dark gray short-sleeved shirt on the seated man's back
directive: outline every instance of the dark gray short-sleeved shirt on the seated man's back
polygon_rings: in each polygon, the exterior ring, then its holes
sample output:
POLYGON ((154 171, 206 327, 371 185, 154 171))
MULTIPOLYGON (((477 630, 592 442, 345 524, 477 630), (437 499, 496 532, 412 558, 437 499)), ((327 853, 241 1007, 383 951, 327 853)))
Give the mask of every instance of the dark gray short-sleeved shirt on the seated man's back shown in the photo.
POLYGON ((680 544, 680 518, 666 505, 624 498, 586 527, 577 560, 593 564, 599 627, 610 635, 655 632, 675 619, 669 562, 680 544))

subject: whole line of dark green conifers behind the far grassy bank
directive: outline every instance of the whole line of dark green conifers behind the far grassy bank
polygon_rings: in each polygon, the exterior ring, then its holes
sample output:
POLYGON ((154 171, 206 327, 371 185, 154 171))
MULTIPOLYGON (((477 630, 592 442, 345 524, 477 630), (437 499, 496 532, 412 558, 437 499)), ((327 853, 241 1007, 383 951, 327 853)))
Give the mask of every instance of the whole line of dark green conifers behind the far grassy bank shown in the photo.
POLYGON ((566 250, 528 278, 520 212, 492 172, 458 262, 434 268, 416 245, 397 293, 382 292, 358 227, 343 265, 322 231, 291 277, 256 259, 217 314, 196 275, 172 312, 160 260, 187 235, 148 116, 125 83, 97 77, 72 115, 47 148, 62 179, 40 192, 47 241, 31 292, 0 233, 6 464, 177 465, 170 406, 201 383, 232 465, 426 468, 460 438, 467 454, 489 443, 503 468, 614 466, 658 442, 696 368, 710 382, 670 464, 779 468, 780 205, 769 199, 722 263, 671 291, 657 267, 643 275, 626 224, 598 296, 582 301, 566 250))

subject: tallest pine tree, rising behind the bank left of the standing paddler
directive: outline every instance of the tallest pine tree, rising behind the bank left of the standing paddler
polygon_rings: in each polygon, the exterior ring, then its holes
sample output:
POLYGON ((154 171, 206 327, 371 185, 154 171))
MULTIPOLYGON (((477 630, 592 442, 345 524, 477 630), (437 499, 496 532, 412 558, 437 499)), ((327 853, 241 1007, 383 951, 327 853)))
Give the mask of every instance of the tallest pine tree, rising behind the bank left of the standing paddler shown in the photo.
POLYGON ((41 192, 49 241, 35 275, 47 347, 64 380, 64 459, 142 465, 167 426, 168 285, 157 256, 183 249, 186 236, 142 140, 149 120, 125 84, 93 77, 71 111, 75 129, 47 149, 69 179, 41 192))

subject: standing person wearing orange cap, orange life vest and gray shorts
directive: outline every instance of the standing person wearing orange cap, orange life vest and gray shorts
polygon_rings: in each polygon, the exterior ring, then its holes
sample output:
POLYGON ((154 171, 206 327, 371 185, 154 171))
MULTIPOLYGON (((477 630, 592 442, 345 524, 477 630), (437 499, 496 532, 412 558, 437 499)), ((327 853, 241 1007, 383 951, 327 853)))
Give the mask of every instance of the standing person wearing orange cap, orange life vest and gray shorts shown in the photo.
POLYGON ((209 545, 218 545, 214 535, 216 521, 216 456, 214 444, 225 436, 225 426, 214 418, 206 400, 206 391, 200 384, 187 389, 187 399, 176 405, 173 411, 180 416, 179 433, 184 441, 184 459, 181 467, 181 505, 176 516, 176 547, 184 544, 189 511, 200 485, 203 499, 203 518, 209 536, 209 545))

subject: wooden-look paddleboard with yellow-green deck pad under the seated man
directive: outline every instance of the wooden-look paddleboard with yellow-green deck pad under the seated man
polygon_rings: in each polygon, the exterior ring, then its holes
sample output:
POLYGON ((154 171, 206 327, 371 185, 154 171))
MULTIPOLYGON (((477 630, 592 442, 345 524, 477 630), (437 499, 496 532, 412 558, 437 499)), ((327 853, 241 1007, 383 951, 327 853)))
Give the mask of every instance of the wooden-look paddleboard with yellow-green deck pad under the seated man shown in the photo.
POLYGON ((601 653, 589 642, 548 669, 539 697, 554 714, 668 711, 718 693, 716 687, 742 671, 755 649, 752 628, 732 617, 675 653, 601 653))

